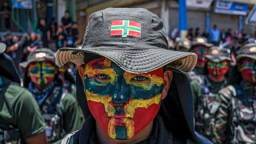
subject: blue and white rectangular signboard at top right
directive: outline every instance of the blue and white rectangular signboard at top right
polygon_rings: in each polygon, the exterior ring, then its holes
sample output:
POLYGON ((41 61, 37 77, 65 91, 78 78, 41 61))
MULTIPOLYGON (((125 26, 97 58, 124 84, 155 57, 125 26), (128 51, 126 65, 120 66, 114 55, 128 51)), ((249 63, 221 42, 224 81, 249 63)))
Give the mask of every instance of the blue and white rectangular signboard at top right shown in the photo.
POLYGON ((247 7, 248 5, 244 3, 218 0, 215 6, 215 13, 246 15, 247 7))

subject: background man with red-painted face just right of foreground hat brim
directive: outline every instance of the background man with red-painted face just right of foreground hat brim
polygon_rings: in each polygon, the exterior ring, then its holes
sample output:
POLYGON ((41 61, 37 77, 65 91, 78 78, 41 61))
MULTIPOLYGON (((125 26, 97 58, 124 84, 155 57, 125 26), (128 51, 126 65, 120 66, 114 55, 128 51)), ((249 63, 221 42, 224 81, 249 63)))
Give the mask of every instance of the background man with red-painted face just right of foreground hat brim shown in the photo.
POLYGON ((205 56, 208 55, 208 50, 211 46, 212 44, 209 44, 205 37, 196 37, 191 42, 189 52, 194 52, 197 55, 196 67, 193 69, 196 75, 203 74, 207 62, 205 56))

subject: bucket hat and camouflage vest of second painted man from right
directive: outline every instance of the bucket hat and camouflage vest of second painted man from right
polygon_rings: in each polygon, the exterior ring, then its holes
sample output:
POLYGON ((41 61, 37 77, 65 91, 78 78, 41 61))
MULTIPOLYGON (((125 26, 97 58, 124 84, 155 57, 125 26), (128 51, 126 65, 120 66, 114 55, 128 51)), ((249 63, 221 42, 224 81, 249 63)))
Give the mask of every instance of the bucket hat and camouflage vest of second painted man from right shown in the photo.
MULTIPOLYGON (((231 61, 228 52, 225 49, 213 46, 209 50, 209 55, 206 56, 212 62, 221 62, 224 60, 231 61)), ((215 101, 217 93, 220 89, 227 86, 227 79, 224 78, 222 82, 214 82, 207 75, 201 75, 195 78, 200 85, 200 97, 195 100, 195 130, 211 140, 211 122, 215 118, 215 101)))

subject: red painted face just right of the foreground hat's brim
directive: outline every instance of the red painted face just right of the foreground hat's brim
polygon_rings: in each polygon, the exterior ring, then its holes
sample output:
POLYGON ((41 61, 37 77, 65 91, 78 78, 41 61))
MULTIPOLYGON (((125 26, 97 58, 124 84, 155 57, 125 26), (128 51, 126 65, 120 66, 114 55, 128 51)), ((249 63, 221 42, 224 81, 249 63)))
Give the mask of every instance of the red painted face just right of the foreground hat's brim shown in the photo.
POLYGON ((208 47, 203 45, 197 45, 193 47, 193 50, 191 52, 194 52, 197 55, 197 67, 204 67, 206 64, 205 55, 208 55, 208 47))

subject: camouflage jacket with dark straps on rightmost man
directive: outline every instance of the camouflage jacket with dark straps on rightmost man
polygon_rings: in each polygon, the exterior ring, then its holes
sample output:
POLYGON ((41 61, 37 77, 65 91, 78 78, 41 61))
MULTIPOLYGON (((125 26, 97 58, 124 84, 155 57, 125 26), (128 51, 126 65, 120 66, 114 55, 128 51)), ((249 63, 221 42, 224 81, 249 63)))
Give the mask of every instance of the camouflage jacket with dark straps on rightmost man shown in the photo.
POLYGON ((218 92, 213 142, 255 143, 256 85, 242 81, 218 92))

